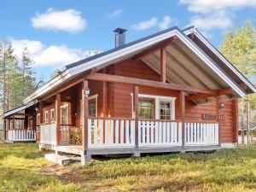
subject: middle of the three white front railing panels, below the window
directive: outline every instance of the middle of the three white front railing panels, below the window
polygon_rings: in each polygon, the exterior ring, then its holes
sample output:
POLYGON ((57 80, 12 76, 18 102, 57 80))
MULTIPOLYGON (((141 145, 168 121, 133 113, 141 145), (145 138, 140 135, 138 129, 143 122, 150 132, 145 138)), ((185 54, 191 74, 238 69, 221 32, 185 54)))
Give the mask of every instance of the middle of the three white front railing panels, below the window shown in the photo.
POLYGON ((182 123, 166 120, 139 120, 139 147, 182 145, 182 123))

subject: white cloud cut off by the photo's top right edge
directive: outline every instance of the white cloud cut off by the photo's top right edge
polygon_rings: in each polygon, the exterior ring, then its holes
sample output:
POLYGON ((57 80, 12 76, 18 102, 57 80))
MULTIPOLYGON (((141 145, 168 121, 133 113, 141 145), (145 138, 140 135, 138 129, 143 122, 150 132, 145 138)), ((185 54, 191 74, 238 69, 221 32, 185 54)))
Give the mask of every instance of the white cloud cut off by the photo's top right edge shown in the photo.
POLYGON ((188 4, 189 11, 196 13, 256 7, 256 0, 179 0, 179 3, 188 4))

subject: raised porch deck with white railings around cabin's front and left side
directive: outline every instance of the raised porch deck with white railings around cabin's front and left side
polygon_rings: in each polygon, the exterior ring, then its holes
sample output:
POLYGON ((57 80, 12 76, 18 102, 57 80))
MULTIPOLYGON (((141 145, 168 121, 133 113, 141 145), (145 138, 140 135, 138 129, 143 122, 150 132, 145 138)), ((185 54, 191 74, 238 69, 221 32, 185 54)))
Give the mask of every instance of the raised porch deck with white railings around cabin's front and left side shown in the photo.
MULTIPOLYGON (((68 142, 70 138, 68 127, 70 126, 61 126, 61 144, 56 146, 56 137, 54 137, 56 126, 42 126, 40 148, 67 154, 83 154, 82 145, 73 145, 68 142)), ((209 123, 185 121, 184 131, 183 145, 181 121, 89 118, 86 154, 139 155, 219 149, 217 121, 209 123)))

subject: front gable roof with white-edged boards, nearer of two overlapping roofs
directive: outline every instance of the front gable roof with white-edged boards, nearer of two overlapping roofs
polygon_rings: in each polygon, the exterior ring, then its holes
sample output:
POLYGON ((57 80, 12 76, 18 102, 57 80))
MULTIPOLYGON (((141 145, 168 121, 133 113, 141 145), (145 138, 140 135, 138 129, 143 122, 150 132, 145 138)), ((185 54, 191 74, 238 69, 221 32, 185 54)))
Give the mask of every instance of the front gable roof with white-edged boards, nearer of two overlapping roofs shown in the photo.
POLYGON ((67 65, 65 71, 56 76, 54 79, 51 79, 47 84, 44 84, 43 87, 36 90, 31 96, 28 96, 24 102, 31 102, 32 100, 37 99, 38 96, 44 96, 50 90, 55 89, 61 84, 66 83, 69 79, 73 79, 80 73, 83 73, 91 68, 98 67, 99 69, 100 67, 106 67, 114 62, 125 60, 133 55, 137 55, 144 49, 148 49, 154 44, 158 44, 161 41, 173 36, 177 36, 177 38, 186 44, 189 49, 193 50, 195 55, 200 57, 201 60, 206 63, 207 67, 210 67, 220 79, 223 79, 225 83, 229 84, 229 86, 236 91, 238 96, 246 95, 246 92, 241 89, 236 81, 230 78, 230 76, 225 73, 224 70, 214 61, 212 61, 212 59, 204 51, 202 51, 200 47, 197 46, 183 31, 181 31, 177 26, 174 26, 164 31, 156 32, 153 35, 149 35, 145 38, 140 38, 131 43, 124 44, 114 49, 109 49, 98 55, 93 55, 84 60, 67 65))

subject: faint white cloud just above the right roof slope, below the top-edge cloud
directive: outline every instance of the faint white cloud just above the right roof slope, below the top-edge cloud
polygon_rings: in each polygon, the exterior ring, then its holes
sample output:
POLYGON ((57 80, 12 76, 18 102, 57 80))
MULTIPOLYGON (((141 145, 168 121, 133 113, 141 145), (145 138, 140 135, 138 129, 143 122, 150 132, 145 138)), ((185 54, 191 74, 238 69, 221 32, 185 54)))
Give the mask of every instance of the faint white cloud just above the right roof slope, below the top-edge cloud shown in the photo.
POLYGON ((227 15, 224 11, 218 11, 207 16, 196 15, 192 17, 190 25, 209 31, 212 28, 227 28, 232 25, 232 20, 230 19, 230 15, 227 15))

